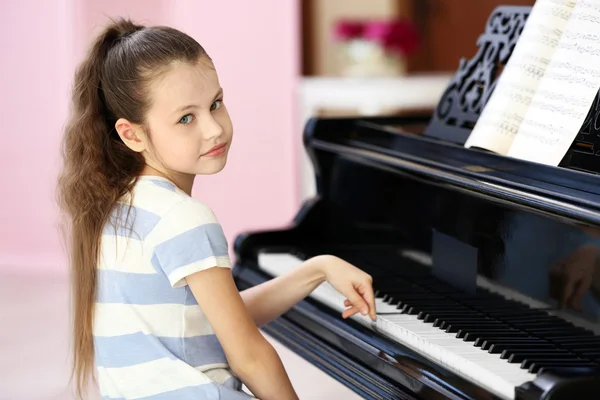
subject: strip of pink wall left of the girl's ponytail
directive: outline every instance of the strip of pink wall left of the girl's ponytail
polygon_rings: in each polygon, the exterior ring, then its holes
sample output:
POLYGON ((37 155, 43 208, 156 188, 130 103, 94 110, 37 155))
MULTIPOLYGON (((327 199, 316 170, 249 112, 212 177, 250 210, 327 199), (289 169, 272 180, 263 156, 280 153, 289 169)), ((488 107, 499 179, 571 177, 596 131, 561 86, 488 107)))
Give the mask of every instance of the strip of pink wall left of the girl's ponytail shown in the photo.
POLYGON ((70 0, 0 5, 0 268, 60 268, 54 184, 67 115, 70 0))

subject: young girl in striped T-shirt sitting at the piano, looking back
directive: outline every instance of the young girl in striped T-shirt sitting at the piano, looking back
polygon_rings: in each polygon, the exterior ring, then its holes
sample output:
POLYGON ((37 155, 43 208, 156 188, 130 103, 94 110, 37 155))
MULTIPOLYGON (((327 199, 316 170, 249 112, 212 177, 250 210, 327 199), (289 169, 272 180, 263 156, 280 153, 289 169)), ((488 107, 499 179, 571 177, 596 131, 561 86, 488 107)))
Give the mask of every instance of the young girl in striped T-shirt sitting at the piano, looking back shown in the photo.
POLYGON ((113 22, 79 66, 66 127, 74 377, 104 400, 295 399, 268 323, 329 281, 342 314, 375 318, 371 277, 333 256, 238 292, 217 218, 191 197, 223 169, 232 124, 204 49, 168 27, 113 22))

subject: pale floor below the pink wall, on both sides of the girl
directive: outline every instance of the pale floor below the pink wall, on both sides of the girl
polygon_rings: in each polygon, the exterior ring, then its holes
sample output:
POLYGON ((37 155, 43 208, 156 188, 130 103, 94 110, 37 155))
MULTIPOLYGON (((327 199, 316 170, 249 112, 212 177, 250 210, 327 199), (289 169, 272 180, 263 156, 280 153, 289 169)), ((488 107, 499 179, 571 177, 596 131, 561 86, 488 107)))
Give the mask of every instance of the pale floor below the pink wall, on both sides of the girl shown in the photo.
MULTIPOLYGON (((64 276, 0 275, 0 400, 72 400, 64 276)), ((300 399, 361 397, 269 338, 300 399)), ((90 400, 99 398, 90 393, 90 400)))

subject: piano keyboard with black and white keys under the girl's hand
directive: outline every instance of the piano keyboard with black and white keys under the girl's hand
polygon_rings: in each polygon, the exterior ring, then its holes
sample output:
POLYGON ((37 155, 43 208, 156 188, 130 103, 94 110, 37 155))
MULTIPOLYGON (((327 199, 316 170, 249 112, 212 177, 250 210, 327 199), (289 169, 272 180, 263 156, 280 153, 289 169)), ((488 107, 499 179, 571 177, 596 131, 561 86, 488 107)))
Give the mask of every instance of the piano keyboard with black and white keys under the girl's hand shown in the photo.
MULTIPOLYGON (((260 268, 272 276, 285 274, 302 262, 302 259, 288 253, 261 253, 258 258, 260 268)), ((577 354, 584 351, 581 343, 586 348, 596 348, 600 338, 593 336, 592 332, 578 331, 580 328, 556 317, 551 321, 555 325, 538 323, 536 313, 544 313, 543 310, 530 309, 516 302, 497 306, 494 302, 497 303, 496 297, 499 296, 490 293, 489 298, 483 296, 478 299, 484 303, 482 307, 486 311, 491 309, 492 318, 489 318, 478 312, 476 305, 469 303, 468 295, 463 295, 463 304, 445 295, 444 290, 448 288, 437 287, 438 291, 435 291, 439 281, 427 282, 427 288, 433 287, 433 291, 402 278, 382 281, 378 284, 374 277, 376 321, 362 315, 355 315, 352 319, 501 398, 514 399, 515 388, 533 381, 536 373, 543 368, 596 365, 577 354), (535 332, 548 333, 566 349, 556 349, 547 342, 532 338, 528 333, 508 326, 503 318, 511 321, 511 325, 523 323, 535 332), (565 332, 566 329, 571 331, 565 332), (555 333, 551 334, 552 331, 555 333), (571 340, 573 332, 584 336, 584 339, 579 338, 583 342, 571 340)), ((454 295, 460 298, 456 292, 454 295)), ((345 297, 327 283, 321 284, 310 297, 340 314, 345 309, 345 297)))

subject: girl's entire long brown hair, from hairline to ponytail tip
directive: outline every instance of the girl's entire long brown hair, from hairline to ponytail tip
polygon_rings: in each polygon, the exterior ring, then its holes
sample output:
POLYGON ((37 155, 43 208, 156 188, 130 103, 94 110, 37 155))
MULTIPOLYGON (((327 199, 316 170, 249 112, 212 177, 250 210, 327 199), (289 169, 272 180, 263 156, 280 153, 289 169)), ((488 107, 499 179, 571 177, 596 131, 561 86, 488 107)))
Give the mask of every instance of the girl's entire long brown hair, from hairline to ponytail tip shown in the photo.
POLYGON ((111 21, 75 73, 65 128, 58 201, 66 216, 73 289, 73 375, 84 397, 94 377, 93 310, 100 239, 117 201, 131 192, 144 157, 115 131, 118 118, 145 125, 150 84, 175 61, 206 52, 169 27, 111 21))

